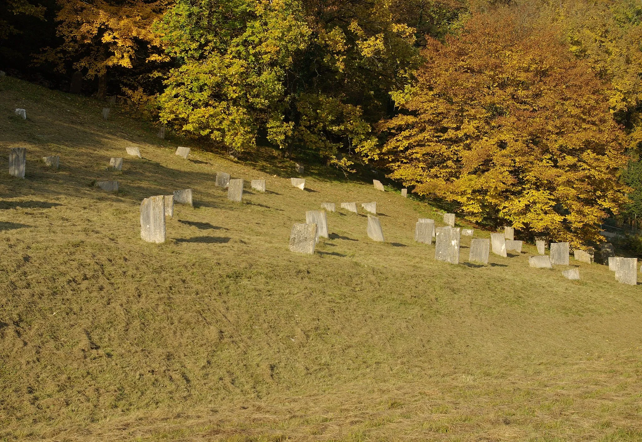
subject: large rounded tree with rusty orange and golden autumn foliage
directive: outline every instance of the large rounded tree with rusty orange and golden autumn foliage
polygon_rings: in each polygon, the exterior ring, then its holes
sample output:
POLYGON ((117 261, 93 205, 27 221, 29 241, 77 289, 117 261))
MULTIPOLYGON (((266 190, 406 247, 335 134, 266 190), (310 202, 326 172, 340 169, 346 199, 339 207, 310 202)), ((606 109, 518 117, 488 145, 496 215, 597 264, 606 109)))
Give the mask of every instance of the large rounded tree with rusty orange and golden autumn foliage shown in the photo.
POLYGON ((428 42, 418 82, 386 121, 390 177, 456 202, 477 222, 554 240, 602 239, 600 222, 629 190, 623 128, 609 84, 564 45, 552 24, 511 8, 474 13, 461 35, 428 42))

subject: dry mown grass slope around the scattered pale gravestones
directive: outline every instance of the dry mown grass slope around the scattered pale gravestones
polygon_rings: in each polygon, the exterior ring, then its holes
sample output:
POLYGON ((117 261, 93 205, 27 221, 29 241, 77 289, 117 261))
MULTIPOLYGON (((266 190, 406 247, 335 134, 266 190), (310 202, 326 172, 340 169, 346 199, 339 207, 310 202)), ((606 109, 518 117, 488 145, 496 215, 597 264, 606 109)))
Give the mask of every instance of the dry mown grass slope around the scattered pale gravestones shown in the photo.
POLYGON ((642 440, 642 295, 607 267, 571 260, 568 281, 528 267, 532 245, 467 265, 468 238, 462 264, 438 262, 413 241, 441 220, 420 202, 314 167, 292 188, 268 149, 241 163, 182 141, 184 160, 102 107, 0 79, 0 440, 642 440), (247 180, 243 203, 219 170, 247 180), (195 207, 142 242, 141 200, 184 188, 195 207), (372 200, 388 242, 338 211, 313 256, 288 251, 306 210, 372 200))

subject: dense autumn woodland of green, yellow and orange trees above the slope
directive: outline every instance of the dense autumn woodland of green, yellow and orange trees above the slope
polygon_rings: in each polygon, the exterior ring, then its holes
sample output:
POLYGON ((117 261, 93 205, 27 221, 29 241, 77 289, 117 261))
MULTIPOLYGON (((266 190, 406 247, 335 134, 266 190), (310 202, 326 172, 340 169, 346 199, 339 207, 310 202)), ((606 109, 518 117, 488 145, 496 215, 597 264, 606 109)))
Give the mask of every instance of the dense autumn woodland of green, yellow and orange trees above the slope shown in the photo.
POLYGON ((642 215, 641 37, 633 0, 0 4, 10 75, 575 246, 642 215))

